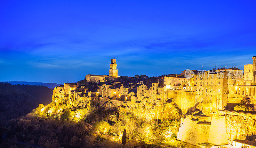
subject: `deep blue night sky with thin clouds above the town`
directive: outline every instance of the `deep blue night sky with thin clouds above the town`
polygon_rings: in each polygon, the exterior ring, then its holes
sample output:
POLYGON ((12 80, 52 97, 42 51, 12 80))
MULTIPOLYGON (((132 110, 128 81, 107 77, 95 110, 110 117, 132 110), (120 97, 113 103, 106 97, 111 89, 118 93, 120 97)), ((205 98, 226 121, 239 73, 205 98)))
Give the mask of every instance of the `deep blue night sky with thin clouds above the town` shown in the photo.
POLYGON ((256 56, 256 1, 0 1, 0 81, 238 67, 256 56))

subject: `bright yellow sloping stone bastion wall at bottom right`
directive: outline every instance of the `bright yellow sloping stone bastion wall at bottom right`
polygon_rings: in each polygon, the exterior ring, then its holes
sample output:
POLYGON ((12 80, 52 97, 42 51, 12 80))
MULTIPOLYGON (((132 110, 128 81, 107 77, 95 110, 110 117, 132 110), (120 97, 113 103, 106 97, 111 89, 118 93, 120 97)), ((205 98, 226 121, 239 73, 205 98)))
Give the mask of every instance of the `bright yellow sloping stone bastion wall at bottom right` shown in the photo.
POLYGON ((209 142, 221 145, 228 144, 234 139, 245 140, 247 136, 256 133, 256 115, 232 111, 222 112, 224 115, 214 113, 210 124, 204 124, 204 122, 199 124, 205 117, 186 116, 186 119, 181 119, 177 139, 192 144, 209 142))

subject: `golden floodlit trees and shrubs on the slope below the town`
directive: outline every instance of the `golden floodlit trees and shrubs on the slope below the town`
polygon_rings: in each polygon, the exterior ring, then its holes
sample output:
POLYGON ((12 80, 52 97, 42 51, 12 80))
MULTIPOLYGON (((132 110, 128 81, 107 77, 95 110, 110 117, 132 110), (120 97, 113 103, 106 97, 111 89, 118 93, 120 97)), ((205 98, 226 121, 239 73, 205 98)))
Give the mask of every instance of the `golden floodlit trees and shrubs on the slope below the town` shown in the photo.
MULTIPOLYGON (((69 105, 58 105, 50 103, 40 104, 32 111, 34 116, 43 116, 56 121, 86 122, 93 125, 90 130, 92 135, 95 133, 102 138, 106 136, 113 141, 122 144, 123 131, 126 129, 128 145, 136 144, 168 144, 172 147, 192 147, 176 140, 180 126, 180 120, 176 118, 166 118, 157 120, 143 118, 134 112, 123 112, 118 108, 104 109, 100 106, 90 105, 90 101, 84 108, 72 109, 69 105)), ((174 117, 174 116, 173 116, 174 117)), ((61 122, 62 123, 62 122, 61 122)), ((83 143, 79 144, 81 147, 83 143)), ((104 146, 103 146, 104 147, 104 146)))

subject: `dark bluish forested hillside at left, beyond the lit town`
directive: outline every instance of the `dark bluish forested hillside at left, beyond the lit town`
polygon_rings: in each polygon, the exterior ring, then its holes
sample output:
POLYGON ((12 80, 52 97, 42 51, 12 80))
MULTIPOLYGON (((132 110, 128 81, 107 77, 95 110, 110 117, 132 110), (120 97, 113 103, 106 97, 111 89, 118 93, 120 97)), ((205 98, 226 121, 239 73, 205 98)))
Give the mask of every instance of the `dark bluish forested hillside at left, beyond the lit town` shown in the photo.
POLYGON ((0 126, 52 102, 52 89, 46 86, 12 85, 0 82, 0 126))

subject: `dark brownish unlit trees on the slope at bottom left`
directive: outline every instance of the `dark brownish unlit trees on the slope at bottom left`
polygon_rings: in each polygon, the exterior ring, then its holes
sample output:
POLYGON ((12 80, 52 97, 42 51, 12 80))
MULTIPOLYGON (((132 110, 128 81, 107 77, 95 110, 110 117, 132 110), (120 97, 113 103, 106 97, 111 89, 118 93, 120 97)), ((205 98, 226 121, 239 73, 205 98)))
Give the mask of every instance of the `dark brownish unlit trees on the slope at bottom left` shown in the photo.
MULTIPOLYGON (((44 148, 120 148, 122 144, 94 136, 84 123, 38 117, 28 114, 9 121, 10 130, 2 139, 0 147, 44 147, 44 148)), ((127 148, 134 145, 126 144, 127 148)))

